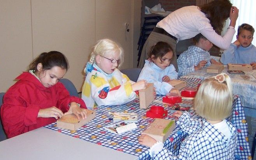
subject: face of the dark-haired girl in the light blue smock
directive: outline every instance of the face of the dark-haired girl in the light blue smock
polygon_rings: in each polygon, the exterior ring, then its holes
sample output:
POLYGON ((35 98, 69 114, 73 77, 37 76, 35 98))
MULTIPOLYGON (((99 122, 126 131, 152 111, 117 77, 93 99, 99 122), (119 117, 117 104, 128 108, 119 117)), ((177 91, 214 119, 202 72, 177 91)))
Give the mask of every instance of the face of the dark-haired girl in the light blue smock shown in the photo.
POLYGON ((152 61, 154 62, 154 64, 156 64, 159 68, 161 69, 165 69, 168 66, 170 66, 171 60, 172 60, 172 51, 167 52, 167 54, 165 54, 165 56, 163 56, 161 59, 160 57, 154 57, 154 55, 151 56, 152 61), (161 62, 162 60, 162 62, 161 62))

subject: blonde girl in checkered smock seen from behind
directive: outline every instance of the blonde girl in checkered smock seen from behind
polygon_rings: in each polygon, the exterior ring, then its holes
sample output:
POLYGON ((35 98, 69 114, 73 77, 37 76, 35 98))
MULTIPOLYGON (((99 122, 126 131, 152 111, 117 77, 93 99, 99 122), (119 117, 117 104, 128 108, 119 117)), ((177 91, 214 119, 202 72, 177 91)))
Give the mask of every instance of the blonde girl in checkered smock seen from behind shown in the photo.
POLYGON ((228 75, 221 73, 207 78, 195 97, 195 111, 202 120, 191 118, 187 111, 174 113, 179 118, 177 124, 189 135, 182 141, 179 155, 173 155, 163 147, 163 143, 156 142, 146 134, 139 137, 139 143, 151 147, 149 154, 159 160, 235 159, 236 129, 225 120, 231 115, 232 101, 231 80, 228 75))

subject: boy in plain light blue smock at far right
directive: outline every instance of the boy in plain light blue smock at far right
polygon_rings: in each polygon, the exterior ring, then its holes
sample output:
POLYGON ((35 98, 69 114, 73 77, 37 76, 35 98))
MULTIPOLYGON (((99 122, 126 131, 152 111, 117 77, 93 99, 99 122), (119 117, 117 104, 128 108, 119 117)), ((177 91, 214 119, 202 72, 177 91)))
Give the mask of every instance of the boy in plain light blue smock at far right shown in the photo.
POLYGON ((254 28, 250 24, 238 26, 237 40, 221 55, 221 63, 251 64, 256 70, 256 47, 252 45, 254 28))

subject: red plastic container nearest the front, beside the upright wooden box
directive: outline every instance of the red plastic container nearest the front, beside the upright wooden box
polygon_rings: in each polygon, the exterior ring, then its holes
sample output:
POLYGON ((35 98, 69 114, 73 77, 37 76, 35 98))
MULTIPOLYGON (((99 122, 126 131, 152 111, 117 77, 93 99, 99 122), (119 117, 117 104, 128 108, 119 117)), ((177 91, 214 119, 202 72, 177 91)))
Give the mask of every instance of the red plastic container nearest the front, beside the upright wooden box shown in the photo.
POLYGON ((168 111, 164 110, 162 106, 152 106, 147 112, 146 117, 149 118, 165 118, 167 117, 168 111))

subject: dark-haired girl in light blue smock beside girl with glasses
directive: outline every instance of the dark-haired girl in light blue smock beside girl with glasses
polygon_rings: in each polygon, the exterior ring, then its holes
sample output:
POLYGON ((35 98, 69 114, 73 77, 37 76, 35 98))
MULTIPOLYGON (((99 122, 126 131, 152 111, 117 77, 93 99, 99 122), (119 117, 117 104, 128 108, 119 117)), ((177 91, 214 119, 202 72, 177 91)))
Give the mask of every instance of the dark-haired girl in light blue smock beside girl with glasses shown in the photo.
POLYGON ((178 73, 175 71, 174 65, 171 64, 172 47, 166 42, 157 42, 149 50, 148 57, 138 81, 147 80, 149 83, 154 83, 156 94, 175 93, 180 95, 179 90, 168 83, 170 80, 178 78, 178 73))

